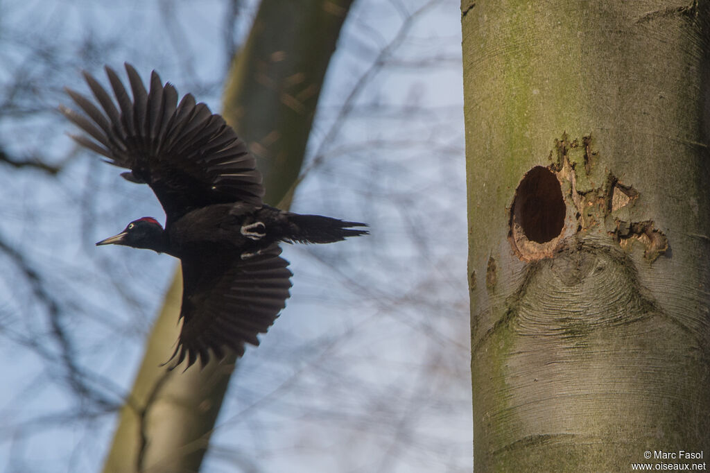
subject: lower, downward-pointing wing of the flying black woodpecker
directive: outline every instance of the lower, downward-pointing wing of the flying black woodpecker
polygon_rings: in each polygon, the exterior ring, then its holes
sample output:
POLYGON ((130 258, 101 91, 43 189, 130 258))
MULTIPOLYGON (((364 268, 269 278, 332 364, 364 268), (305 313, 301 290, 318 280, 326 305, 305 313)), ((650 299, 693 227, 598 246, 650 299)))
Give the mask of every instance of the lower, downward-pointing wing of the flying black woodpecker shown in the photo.
POLYGON ((197 357, 204 366, 209 351, 222 359, 224 347, 241 357, 244 342, 259 344, 256 335, 266 333, 289 296, 292 275, 280 253, 272 245, 244 260, 182 258, 182 331, 175 366, 187 358, 189 367, 197 357))

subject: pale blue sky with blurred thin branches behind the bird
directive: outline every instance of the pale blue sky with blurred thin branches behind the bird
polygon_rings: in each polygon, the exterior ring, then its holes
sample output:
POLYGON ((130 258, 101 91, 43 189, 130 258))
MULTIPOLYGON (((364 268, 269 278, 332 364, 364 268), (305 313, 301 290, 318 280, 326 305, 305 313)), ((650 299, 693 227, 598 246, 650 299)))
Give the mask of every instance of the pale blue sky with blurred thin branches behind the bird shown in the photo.
MULTIPOLYGON (((362 219, 372 234, 285 248, 295 273, 292 296, 240 364, 206 472, 471 470, 456 2, 435 2, 421 13, 381 70, 368 76, 337 139, 322 142, 344 97, 422 4, 363 0, 351 11, 306 166, 315 155, 322 160, 308 171, 292 209, 362 219)), ((227 36, 221 1, 8 1, 2 9, 0 40, 8 46, 0 60, 9 65, 0 72, 3 84, 17 70, 42 84, 42 65, 29 60, 41 31, 57 48, 47 62, 56 62, 64 85, 85 90, 79 67, 99 73, 104 62, 121 67, 127 60, 143 77, 155 68, 181 94, 193 92, 219 111, 227 36), (88 39, 108 52, 82 50, 88 39)), ((253 12, 247 7, 230 34, 243 36, 253 12)), ((87 385, 120 401, 175 260, 93 243, 137 217, 162 220, 163 212, 148 187, 75 151, 65 136, 72 127, 52 112, 67 103, 60 87, 38 94, 45 107, 38 113, 0 115, 0 142, 18 156, 58 163, 73 157, 58 178, 2 173, 1 198, 12 202, 0 209, 0 238, 43 275, 40 286, 60 304, 87 385)), ((16 261, 0 261, 0 354, 11 361, 0 369, 0 469, 96 471, 116 417, 67 386, 48 308, 16 261), (43 344, 44 356, 33 341, 43 344)))

